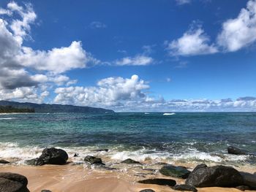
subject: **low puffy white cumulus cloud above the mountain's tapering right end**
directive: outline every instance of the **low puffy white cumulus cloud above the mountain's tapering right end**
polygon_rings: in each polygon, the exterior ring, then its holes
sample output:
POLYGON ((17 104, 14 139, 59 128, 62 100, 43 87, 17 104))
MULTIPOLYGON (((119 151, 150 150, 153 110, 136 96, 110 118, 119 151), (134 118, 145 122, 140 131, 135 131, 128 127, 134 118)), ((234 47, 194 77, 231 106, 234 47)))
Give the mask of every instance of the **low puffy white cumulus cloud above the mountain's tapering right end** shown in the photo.
POLYGON ((56 88, 54 101, 61 104, 115 106, 127 101, 146 97, 143 90, 149 86, 138 75, 131 78, 108 77, 97 82, 95 87, 56 88))

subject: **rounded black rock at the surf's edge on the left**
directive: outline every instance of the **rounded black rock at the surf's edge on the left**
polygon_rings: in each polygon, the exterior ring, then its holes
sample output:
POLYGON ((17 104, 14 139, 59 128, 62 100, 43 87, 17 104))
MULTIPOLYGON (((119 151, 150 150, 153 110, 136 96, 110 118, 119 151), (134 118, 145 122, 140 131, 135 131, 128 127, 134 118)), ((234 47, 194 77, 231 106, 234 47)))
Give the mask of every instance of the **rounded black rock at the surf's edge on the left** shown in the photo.
POLYGON ((45 148, 42 151, 42 155, 37 159, 36 165, 44 165, 44 164, 56 164, 63 165, 67 163, 67 159, 69 156, 66 151, 61 149, 45 148))

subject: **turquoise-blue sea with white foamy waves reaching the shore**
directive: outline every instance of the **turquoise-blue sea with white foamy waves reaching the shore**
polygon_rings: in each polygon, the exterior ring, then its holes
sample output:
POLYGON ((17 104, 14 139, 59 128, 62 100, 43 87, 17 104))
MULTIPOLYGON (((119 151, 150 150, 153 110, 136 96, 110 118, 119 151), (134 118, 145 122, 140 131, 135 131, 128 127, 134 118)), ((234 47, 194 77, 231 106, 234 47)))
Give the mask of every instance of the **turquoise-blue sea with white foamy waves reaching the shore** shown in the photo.
POLYGON ((226 152, 229 145, 256 152, 256 113, 9 114, 0 115, 0 137, 1 158, 31 158, 53 146, 108 148, 113 159, 256 162, 226 152))

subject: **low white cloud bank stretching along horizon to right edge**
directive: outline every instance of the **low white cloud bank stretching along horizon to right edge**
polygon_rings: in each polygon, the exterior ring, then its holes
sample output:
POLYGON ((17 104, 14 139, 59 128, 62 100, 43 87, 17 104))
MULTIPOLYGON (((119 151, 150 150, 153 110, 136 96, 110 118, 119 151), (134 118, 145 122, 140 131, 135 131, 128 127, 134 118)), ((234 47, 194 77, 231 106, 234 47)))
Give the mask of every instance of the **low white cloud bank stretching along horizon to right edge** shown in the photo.
POLYGON ((54 101, 61 104, 106 107, 119 112, 241 112, 256 111, 255 97, 232 99, 173 99, 149 96, 150 85, 138 75, 109 77, 93 87, 56 88, 54 101))

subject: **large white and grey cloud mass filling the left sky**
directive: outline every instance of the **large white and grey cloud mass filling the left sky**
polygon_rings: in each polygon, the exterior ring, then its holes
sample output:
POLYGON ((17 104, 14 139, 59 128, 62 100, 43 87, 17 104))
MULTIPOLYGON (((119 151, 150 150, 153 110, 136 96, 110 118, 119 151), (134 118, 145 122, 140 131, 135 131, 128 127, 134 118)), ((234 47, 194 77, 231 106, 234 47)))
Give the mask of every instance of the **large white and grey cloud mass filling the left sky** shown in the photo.
POLYGON ((42 102, 48 89, 77 82, 65 72, 99 64, 79 41, 51 50, 25 47, 23 43, 31 40, 31 25, 37 18, 31 4, 21 6, 11 1, 6 8, 0 8, 1 15, 0 99, 42 102))

